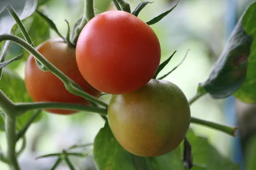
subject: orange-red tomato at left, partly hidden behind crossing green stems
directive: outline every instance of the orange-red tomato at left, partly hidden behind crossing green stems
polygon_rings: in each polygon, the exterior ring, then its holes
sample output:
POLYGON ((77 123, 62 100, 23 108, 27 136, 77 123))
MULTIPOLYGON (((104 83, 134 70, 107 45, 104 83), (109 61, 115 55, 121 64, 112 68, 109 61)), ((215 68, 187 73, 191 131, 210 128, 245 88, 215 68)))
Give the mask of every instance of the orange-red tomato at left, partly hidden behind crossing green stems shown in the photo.
MULTIPOLYGON (((76 65, 76 49, 60 40, 47 40, 37 50, 55 67, 73 79, 87 93, 99 97, 101 92, 89 85, 79 72, 76 65)), ((50 71, 41 71, 32 55, 26 63, 25 85, 35 102, 67 102, 89 105, 89 102, 68 92, 64 83, 50 71)), ((47 110, 58 114, 71 114, 76 111, 47 110)))

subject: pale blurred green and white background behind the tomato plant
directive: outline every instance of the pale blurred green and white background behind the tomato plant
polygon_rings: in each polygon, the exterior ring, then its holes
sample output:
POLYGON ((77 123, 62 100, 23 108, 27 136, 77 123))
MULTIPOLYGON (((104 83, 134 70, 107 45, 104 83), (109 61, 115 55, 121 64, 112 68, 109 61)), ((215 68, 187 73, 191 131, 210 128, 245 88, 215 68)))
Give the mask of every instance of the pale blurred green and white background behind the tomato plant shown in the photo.
MULTIPOLYGON (((113 10, 110 0, 95 0, 96 11, 113 10)), ((161 61, 167 59, 175 50, 177 53, 168 66, 160 73, 164 74, 179 63, 186 51, 189 54, 183 64, 166 80, 178 85, 187 98, 196 94, 199 82, 203 82, 209 75, 210 69, 218 58, 227 42, 229 23, 227 9, 229 0, 182 0, 178 6, 159 23, 151 28, 156 32, 162 49, 161 61)), ((244 11, 250 0, 237 0, 238 16, 244 11)), ((134 9, 141 0, 128 0, 134 9)), ((176 0, 156 0, 148 4, 139 17, 143 21, 163 13, 175 5, 176 0)), ((235 1, 233 1, 235 2, 235 1)), ((83 13, 84 0, 49 0, 44 8, 45 14, 54 21, 62 34, 67 33, 67 19, 73 28, 77 18, 83 13)), ((11 20, 12 18, 10 18, 11 20)), ((57 35, 51 31, 51 37, 57 35)), ((9 57, 20 54, 20 48, 12 45, 9 57)), ((20 65, 13 63, 10 68, 14 69, 20 77, 24 77, 25 61, 20 65)), ((104 96, 108 102, 110 96, 104 96)), ((208 95, 199 99, 191 107, 192 116, 220 123, 229 123, 224 114, 225 100, 213 100, 208 95)), ((92 143, 104 121, 100 116, 93 113, 78 113, 70 116, 61 116, 43 113, 40 122, 33 124, 26 134, 27 147, 19 158, 24 170, 49 170, 56 158, 35 160, 35 157, 49 153, 61 152, 73 144, 92 143)), ((232 137, 216 130, 198 125, 191 125, 195 133, 207 137, 212 145, 224 156, 232 156, 232 137)), ((6 139, 0 132, 0 146, 6 149, 6 139)), ((17 147, 20 147, 18 144, 17 147)), ((83 148, 84 150, 84 148, 83 148)), ((87 147, 90 153, 92 147, 87 147)), ((83 170, 95 170, 92 157, 87 159, 71 158, 77 167, 83 170)), ((8 167, 0 162, 0 170, 8 170, 8 167)), ((62 164, 57 170, 68 170, 62 164)))

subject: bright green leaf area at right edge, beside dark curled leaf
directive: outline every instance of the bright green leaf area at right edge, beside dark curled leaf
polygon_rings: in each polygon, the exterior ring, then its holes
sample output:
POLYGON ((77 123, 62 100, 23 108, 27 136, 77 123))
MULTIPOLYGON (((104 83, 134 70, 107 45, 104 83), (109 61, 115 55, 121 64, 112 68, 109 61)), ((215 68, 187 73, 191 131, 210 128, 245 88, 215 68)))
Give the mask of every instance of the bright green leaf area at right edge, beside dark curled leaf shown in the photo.
MULTIPOLYGON (((253 3, 244 14, 242 24, 247 34, 256 38, 256 3, 253 3)), ((236 91, 234 96, 245 103, 256 103, 256 40, 251 45, 251 53, 248 58, 247 77, 241 88, 236 91)))

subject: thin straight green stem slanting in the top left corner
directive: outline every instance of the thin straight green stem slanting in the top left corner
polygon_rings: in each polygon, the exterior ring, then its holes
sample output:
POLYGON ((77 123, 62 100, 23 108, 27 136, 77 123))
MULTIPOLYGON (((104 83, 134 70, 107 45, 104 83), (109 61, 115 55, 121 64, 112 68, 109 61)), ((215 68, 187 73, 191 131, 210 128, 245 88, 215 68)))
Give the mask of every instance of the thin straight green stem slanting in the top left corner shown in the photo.
POLYGON ((29 33, 26 31, 25 26, 23 25, 23 23, 21 22, 18 14, 16 13, 16 11, 12 8, 11 5, 9 5, 7 8, 8 12, 12 15, 13 19, 16 21, 17 26, 19 26, 21 33, 23 34, 25 40, 32 45, 33 48, 35 48, 31 38, 29 37, 29 33))

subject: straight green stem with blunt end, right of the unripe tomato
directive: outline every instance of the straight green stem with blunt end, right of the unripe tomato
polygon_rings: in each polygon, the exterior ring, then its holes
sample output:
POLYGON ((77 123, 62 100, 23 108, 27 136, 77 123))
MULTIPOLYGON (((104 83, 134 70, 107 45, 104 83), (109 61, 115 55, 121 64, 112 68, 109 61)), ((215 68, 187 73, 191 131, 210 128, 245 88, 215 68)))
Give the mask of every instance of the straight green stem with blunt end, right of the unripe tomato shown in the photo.
POLYGON ((212 127, 214 129, 220 130, 224 133, 227 133, 231 136, 236 136, 237 135, 236 134, 237 127, 229 127, 229 126, 225 126, 225 125, 220 125, 220 124, 215 123, 215 122, 209 122, 209 121, 198 119, 198 118, 195 118, 195 117, 191 118, 191 122, 196 123, 196 124, 200 124, 200 125, 204 125, 204 126, 208 126, 208 127, 212 127))

